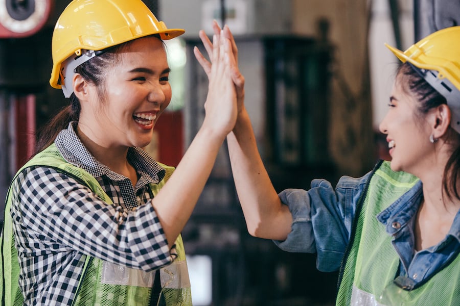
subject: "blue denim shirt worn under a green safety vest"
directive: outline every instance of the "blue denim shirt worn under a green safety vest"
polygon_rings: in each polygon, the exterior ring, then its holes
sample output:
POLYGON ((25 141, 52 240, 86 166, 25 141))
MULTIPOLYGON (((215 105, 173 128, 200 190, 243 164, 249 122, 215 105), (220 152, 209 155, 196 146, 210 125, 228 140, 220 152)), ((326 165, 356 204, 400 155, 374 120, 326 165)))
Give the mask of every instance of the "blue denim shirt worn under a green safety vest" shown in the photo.
MULTIPOLYGON (((326 180, 313 180, 310 190, 286 189, 279 196, 292 214, 292 230, 285 241, 274 241, 290 252, 317 252, 320 271, 334 271, 350 240, 356 205, 371 172, 355 179, 343 176, 335 190, 326 180)), ((458 256, 460 251, 460 210, 449 233, 440 243, 415 252, 413 225, 423 198, 422 182, 396 200, 378 216, 399 254, 399 282, 414 286, 424 282, 458 256)))

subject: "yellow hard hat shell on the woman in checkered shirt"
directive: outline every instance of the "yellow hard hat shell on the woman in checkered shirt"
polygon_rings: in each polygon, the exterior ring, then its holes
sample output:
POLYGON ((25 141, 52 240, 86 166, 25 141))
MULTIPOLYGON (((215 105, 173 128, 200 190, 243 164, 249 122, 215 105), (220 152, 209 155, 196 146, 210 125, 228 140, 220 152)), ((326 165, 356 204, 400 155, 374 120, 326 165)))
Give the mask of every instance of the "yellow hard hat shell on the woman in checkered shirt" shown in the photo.
POLYGON ((152 34, 167 40, 184 32, 168 29, 141 0, 74 0, 54 28, 50 85, 61 88, 64 61, 86 50, 102 50, 152 34))

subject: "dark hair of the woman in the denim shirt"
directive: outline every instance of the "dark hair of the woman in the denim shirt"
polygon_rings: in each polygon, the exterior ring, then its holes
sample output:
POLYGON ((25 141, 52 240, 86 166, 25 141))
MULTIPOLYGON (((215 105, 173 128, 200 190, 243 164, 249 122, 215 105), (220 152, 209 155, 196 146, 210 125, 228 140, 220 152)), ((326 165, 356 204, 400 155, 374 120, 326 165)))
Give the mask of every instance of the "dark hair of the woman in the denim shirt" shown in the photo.
MULTIPOLYGON (((447 104, 446 98, 436 91, 421 75, 414 70, 409 63, 401 64, 397 69, 397 80, 400 81, 403 90, 409 91, 419 100, 421 114, 426 114, 432 108, 447 104)), ((451 137, 460 139, 460 134, 449 127, 451 137)), ((458 143, 455 141, 454 143, 458 143)), ((452 155, 447 161, 443 174, 443 188, 449 199, 452 199, 452 192, 457 199, 460 195, 457 190, 457 180, 460 176, 460 146, 453 148, 452 155)))

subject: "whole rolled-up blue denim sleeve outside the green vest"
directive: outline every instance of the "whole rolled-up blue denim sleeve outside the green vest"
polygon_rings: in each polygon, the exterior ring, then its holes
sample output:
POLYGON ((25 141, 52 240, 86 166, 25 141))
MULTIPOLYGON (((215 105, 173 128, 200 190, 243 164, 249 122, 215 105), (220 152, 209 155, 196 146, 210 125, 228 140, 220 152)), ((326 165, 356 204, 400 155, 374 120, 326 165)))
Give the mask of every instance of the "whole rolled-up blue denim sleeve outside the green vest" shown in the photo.
POLYGON ((289 252, 316 252, 318 270, 337 270, 350 240, 356 205, 369 174, 358 179, 342 176, 335 189, 326 180, 313 180, 308 191, 282 191, 279 197, 292 214, 291 233, 286 240, 273 242, 289 252))

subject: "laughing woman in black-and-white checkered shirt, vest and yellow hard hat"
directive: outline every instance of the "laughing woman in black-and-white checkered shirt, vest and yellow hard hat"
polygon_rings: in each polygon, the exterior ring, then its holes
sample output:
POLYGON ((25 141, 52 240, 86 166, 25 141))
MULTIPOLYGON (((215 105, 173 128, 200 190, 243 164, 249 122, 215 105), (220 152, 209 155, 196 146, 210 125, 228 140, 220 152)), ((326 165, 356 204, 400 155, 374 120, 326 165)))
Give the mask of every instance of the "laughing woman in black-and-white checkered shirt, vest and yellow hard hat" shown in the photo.
POLYGON ((59 17, 50 84, 71 105, 10 187, 4 304, 192 304, 180 232, 237 106, 222 36, 205 119, 174 173, 141 149, 171 100, 162 40, 183 32, 141 0, 74 0, 59 17))

